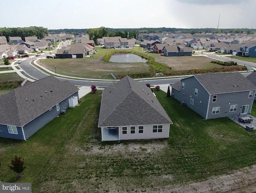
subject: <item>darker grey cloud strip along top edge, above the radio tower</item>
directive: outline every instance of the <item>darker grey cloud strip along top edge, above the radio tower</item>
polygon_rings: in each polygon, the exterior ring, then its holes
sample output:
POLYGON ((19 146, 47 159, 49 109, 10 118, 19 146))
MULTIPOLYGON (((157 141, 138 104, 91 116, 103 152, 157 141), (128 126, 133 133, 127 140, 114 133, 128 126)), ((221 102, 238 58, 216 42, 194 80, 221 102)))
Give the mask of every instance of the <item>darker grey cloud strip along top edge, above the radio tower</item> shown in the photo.
MULTIPOLYGON (((241 4, 241 0, 176 0, 181 3, 186 4, 196 4, 196 5, 226 5, 226 4, 241 4)), ((249 3, 250 0, 248 0, 249 3)), ((244 3, 244 2, 243 2, 244 3)))

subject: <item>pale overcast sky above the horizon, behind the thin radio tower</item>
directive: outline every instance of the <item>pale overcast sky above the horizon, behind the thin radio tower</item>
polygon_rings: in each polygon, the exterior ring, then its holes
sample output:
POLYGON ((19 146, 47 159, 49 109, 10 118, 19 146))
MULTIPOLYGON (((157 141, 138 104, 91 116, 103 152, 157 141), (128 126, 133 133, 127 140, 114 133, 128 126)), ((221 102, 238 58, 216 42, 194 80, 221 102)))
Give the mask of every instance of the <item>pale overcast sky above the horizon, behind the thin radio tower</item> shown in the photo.
POLYGON ((256 28, 256 0, 8 0, 0 27, 256 28))

